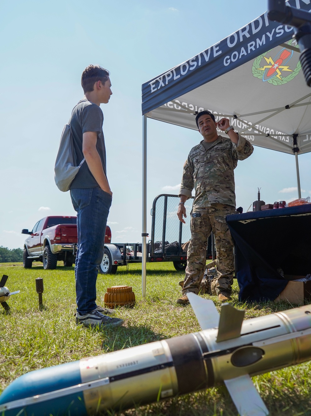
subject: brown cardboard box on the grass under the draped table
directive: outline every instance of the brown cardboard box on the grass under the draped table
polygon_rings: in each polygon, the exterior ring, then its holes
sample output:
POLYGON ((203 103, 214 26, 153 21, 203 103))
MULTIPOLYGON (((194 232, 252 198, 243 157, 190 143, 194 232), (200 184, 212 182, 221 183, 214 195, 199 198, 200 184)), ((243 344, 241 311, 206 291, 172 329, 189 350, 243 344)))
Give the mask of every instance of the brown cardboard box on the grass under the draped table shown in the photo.
POLYGON ((298 305, 304 305, 311 302, 311 280, 308 282, 295 282, 294 279, 302 279, 305 276, 285 275, 289 280, 285 289, 279 294, 274 302, 289 302, 298 305))

